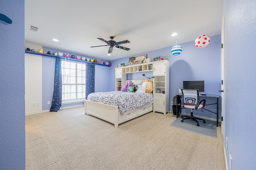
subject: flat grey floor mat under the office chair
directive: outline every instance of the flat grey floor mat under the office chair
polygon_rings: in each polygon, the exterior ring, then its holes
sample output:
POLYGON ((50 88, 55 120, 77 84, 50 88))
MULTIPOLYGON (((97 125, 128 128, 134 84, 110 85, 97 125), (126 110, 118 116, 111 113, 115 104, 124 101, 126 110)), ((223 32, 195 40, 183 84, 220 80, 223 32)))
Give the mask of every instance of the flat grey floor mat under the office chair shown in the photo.
POLYGON ((216 121, 206 120, 206 123, 203 123, 203 121, 199 120, 198 122, 200 126, 197 126, 194 120, 186 119, 184 122, 181 122, 181 120, 182 118, 178 117, 170 124, 170 126, 178 127, 180 129, 192 131, 210 137, 217 137, 216 121))

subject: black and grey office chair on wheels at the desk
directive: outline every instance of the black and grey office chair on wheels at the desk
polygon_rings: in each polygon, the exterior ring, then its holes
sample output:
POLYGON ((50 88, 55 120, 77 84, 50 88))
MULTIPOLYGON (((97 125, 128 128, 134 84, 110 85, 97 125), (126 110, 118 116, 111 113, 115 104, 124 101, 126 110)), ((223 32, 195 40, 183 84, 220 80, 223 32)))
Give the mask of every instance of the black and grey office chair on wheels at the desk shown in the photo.
MULTIPOLYGON (((197 121, 197 119, 198 119, 198 120, 202 120, 204 123, 206 123, 206 121, 204 119, 193 116, 193 110, 204 108, 204 105, 206 102, 205 99, 200 100, 199 90, 198 89, 181 89, 181 91, 182 91, 182 97, 181 97, 182 107, 191 109, 190 116, 187 116, 187 115, 181 116, 181 118, 182 118, 181 122, 183 122, 185 119, 192 119, 192 120, 196 121, 197 126, 200 126, 197 121)), ((202 111, 203 111, 203 109, 202 109, 202 111)))

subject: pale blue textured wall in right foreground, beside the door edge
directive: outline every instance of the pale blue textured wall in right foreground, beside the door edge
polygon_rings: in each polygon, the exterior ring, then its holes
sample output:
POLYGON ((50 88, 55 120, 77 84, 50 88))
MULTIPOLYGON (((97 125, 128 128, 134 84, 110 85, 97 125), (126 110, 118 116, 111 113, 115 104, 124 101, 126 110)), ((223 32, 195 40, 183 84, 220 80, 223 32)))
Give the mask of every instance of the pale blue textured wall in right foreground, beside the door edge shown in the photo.
MULTIPOLYGON (((256 1, 224 0, 225 132, 232 170, 256 169, 256 1)), ((225 145, 224 145, 225 146, 225 145)), ((230 168, 230 167, 229 167, 230 168)))

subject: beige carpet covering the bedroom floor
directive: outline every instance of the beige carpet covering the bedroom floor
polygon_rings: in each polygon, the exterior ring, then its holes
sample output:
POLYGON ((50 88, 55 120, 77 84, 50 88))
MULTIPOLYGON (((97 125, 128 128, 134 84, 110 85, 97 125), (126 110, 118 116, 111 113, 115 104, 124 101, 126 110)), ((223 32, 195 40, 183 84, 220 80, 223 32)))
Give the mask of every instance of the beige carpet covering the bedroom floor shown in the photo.
POLYGON ((170 126, 172 113, 113 124, 84 107, 26 116, 27 170, 225 170, 223 139, 170 126))

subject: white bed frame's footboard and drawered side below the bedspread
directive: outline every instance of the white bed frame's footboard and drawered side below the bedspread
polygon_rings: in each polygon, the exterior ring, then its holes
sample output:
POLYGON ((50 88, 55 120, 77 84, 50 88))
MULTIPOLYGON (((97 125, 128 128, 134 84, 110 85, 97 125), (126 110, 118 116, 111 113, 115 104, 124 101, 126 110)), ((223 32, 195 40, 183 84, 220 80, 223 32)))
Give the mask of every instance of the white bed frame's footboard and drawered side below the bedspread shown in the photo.
POLYGON ((131 109, 124 112, 122 116, 118 106, 111 106, 108 104, 102 104, 98 102, 92 102, 90 100, 84 100, 84 114, 87 113, 98 117, 102 120, 108 121, 115 125, 117 128, 120 123, 124 123, 130 119, 134 119, 140 115, 144 115, 153 110, 153 104, 141 109, 131 109))

